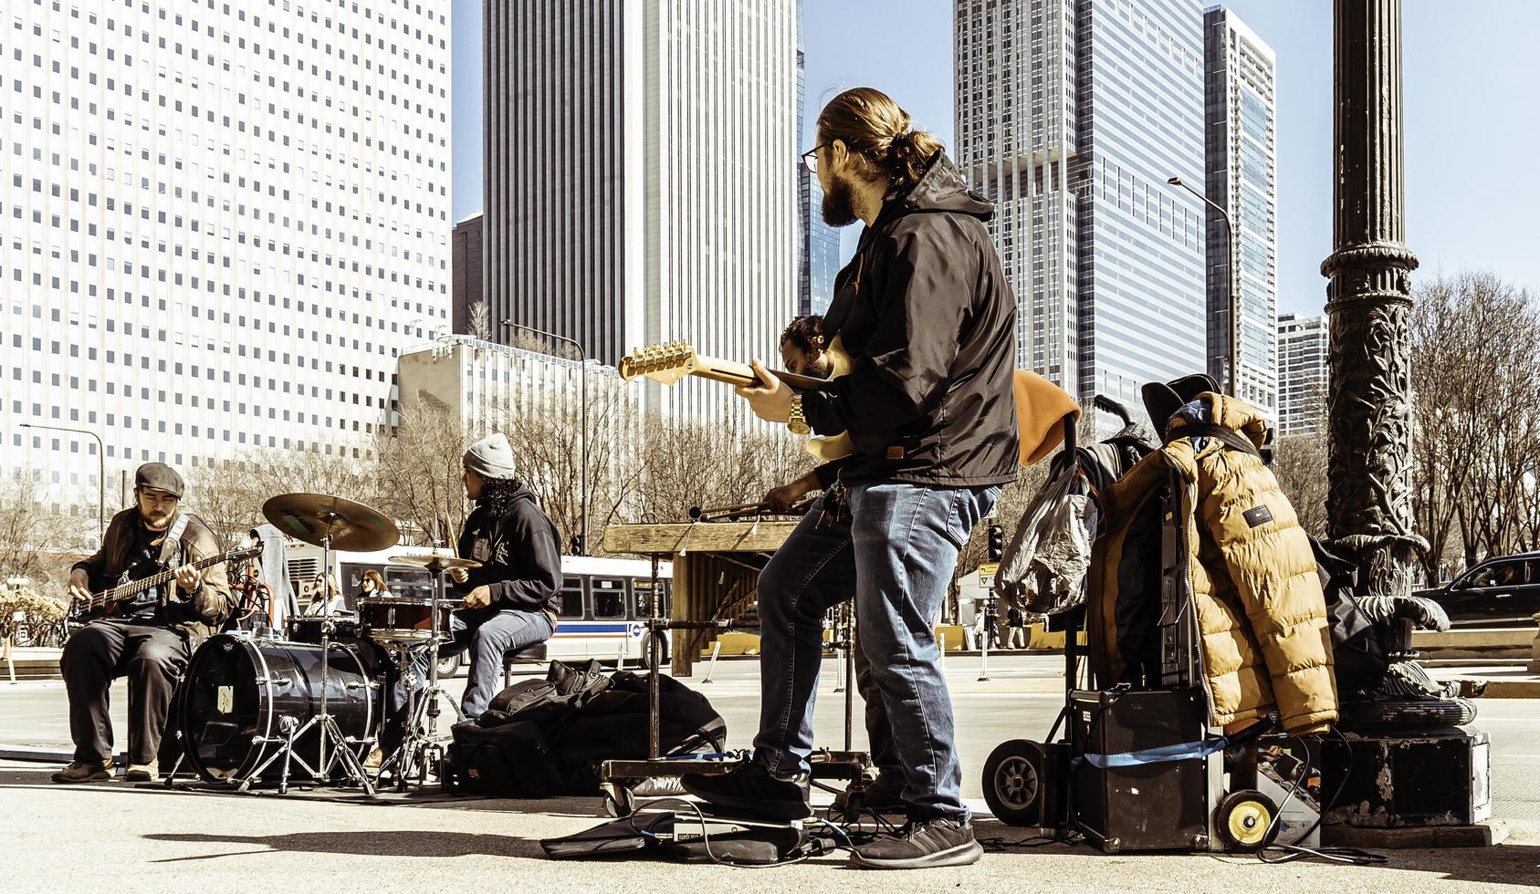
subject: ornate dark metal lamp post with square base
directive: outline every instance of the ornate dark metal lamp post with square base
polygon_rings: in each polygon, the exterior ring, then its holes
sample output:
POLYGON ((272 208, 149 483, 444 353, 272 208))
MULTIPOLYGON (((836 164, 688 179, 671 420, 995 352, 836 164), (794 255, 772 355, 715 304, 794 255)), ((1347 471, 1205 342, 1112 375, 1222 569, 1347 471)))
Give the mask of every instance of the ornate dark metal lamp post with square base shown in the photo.
MULTIPOLYGON (((1391 845, 1441 826, 1435 845, 1491 843, 1489 739, 1475 706, 1417 665, 1412 626, 1448 626, 1412 597, 1428 542, 1412 515, 1411 271, 1401 211, 1401 2, 1335 0, 1334 220, 1326 532, 1358 568, 1358 606, 1391 659, 1378 683, 1344 686, 1340 740, 1321 745, 1326 839, 1391 845), (1357 769, 1354 769, 1357 768, 1357 769), (1358 836, 1358 837, 1354 837, 1358 836)), ((1338 654, 1338 669, 1346 652, 1338 654)), ((1323 840, 1326 840, 1323 839, 1323 840)))

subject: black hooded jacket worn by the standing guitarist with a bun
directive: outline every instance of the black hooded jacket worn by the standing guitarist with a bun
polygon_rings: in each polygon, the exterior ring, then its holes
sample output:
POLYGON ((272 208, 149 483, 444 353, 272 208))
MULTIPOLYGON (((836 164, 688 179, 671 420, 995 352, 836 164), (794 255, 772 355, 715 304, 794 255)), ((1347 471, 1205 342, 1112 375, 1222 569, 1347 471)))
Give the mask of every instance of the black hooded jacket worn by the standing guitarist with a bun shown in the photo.
POLYGON ((835 279, 824 342, 838 335, 853 369, 802 412, 818 434, 850 432, 845 483, 1016 477, 1016 299, 984 229, 993 211, 938 152, 835 279))

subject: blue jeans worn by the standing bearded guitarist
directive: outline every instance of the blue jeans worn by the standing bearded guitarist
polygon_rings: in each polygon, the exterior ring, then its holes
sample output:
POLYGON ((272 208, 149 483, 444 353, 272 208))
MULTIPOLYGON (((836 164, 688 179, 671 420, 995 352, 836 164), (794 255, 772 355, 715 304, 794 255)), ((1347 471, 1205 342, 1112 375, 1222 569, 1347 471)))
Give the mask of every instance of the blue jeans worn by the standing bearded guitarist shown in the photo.
POLYGON ((861 646, 893 726, 910 819, 969 820, 935 628, 973 525, 999 486, 850 488, 850 520, 808 512, 759 572, 761 706, 755 759, 808 771, 824 612, 852 595, 861 646))

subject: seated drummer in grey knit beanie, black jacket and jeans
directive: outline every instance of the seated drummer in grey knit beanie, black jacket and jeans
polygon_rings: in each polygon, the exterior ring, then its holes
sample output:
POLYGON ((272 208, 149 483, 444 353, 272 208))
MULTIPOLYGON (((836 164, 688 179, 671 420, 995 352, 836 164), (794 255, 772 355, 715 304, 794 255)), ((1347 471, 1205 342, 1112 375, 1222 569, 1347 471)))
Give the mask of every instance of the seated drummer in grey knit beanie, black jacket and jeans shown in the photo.
POLYGON ((450 572, 465 608, 450 615, 453 642, 440 655, 470 649, 470 680, 460 712, 479 717, 497 694, 502 655, 545 642, 556 632, 562 554, 556 525, 517 477, 513 448, 502 434, 465 451, 465 495, 476 509, 460 531, 460 559, 480 568, 450 572))

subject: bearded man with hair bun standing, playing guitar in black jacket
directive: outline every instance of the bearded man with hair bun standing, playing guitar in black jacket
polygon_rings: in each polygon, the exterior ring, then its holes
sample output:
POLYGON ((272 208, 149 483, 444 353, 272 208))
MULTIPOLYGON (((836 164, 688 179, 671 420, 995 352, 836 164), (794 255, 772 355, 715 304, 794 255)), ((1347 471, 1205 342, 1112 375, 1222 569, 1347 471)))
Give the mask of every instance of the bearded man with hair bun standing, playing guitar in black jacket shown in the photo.
MULTIPOLYGON (((856 88, 818 117, 804 154, 824 220, 867 229, 835 280, 822 332, 849 375, 795 394, 761 363, 739 388, 755 415, 849 432, 847 499, 824 497, 759 575, 761 712, 755 756, 684 788, 728 811, 796 819, 808 809, 821 619, 855 594, 862 648, 893 725, 909 822, 855 849, 869 868, 973 863, 952 699, 935 629, 958 551, 1016 477, 1012 372, 1016 306, 969 191, 930 134, 886 94, 856 88)), ((838 492, 836 491, 832 491, 838 492)))

